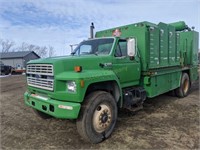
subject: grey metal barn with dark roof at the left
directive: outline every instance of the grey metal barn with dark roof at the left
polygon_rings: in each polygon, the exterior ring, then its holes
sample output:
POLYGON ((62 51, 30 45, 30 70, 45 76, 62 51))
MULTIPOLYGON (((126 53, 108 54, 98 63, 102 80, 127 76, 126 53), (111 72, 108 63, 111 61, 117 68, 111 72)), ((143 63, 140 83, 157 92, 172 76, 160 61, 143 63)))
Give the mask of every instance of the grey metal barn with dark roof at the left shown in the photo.
POLYGON ((13 68, 25 68, 29 60, 39 59, 34 51, 6 52, 0 53, 0 59, 5 65, 13 68))

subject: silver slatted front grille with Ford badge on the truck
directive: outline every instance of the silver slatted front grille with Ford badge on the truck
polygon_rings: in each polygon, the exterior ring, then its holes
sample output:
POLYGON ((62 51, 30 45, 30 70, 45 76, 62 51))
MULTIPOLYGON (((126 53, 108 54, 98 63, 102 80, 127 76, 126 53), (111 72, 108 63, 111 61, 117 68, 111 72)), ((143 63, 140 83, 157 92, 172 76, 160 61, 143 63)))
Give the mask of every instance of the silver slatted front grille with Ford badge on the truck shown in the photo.
POLYGON ((27 65, 27 83, 29 86, 53 91, 54 76, 53 65, 30 64, 27 65))

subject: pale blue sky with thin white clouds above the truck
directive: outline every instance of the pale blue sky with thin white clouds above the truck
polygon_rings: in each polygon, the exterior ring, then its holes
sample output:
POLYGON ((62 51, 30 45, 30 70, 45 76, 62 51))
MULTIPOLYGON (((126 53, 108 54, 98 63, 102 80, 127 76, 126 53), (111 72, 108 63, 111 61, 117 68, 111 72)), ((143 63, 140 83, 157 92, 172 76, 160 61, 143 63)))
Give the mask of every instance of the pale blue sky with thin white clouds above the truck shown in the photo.
POLYGON ((0 0, 0 38, 40 46, 57 55, 95 31, 141 21, 183 20, 200 31, 200 0, 0 0))

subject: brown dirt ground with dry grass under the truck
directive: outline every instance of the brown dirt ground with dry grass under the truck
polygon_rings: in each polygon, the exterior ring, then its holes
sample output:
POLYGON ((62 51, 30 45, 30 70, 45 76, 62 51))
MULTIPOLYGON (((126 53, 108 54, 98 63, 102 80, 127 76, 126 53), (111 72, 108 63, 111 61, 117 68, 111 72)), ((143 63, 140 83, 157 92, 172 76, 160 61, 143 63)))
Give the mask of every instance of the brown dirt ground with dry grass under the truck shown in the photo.
POLYGON ((38 118, 25 106, 25 76, 0 78, 1 149, 200 149, 199 82, 188 97, 147 100, 136 114, 120 111, 109 139, 82 140, 75 121, 38 118))

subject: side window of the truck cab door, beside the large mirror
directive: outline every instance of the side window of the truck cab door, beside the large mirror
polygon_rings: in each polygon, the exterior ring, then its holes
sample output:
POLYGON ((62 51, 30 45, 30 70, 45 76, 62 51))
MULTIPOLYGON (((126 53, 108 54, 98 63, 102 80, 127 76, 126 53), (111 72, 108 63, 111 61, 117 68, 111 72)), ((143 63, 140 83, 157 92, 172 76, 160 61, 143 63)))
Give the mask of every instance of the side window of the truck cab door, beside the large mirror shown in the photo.
POLYGON ((127 56, 127 41, 119 40, 117 49, 115 51, 115 57, 127 56))

